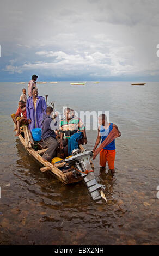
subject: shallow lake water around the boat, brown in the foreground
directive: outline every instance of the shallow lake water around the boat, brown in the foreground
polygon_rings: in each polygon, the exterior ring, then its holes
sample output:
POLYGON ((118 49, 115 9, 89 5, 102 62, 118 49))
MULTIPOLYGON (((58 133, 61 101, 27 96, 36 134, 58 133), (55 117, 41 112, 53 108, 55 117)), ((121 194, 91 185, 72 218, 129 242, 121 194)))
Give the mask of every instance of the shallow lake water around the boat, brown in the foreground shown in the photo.
MULTIPOLYGON (((56 109, 109 111, 118 125, 115 179, 99 170, 106 185, 105 201, 93 202, 84 182, 63 185, 27 155, 14 137, 10 114, 17 108, 27 83, 1 86, 1 245, 133 245, 158 244, 158 92, 159 83, 131 86, 130 82, 69 82, 38 84, 39 95, 56 101, 56 109)), ((92 150, 96 131, 88 131, 92 150)), ((107 167, 108 170, 108 167, 107 167)))

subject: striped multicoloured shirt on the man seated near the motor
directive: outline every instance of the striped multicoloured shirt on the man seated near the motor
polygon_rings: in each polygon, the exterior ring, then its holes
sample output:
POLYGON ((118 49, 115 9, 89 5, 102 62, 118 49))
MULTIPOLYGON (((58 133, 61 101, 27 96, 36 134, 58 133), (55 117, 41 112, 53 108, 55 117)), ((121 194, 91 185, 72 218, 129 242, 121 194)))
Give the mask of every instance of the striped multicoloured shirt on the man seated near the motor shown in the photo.
POLYGON ((84 130, 85 127, 82 123, 82 120, 76 116, 71 118, 70 120, 66 120, 64 117, 60 122, 60 132, 65 133, 66 138, 70 138, 77 131, 84 130))

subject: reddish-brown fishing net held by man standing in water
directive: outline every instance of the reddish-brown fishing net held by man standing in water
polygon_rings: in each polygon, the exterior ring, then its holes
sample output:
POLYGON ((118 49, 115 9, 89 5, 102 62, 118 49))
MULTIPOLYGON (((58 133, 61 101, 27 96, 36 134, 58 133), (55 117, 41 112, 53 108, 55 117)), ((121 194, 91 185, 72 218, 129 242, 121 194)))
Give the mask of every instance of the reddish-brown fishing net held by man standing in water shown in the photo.
POLYGON ((100 153, 100 151, 105 148, 107 145, 109 145, 114 139, 116 139, 117 137, 119 137, 119 132, 117 130, 117 128, 115 128, 115 126, 113 127, 112 131, 109 133, 109 135, 107 136, 107 138, 101 143, 100 147, 97 148, 94 151, 94 156, 93 159, 96 158, 97 154, 100 153))

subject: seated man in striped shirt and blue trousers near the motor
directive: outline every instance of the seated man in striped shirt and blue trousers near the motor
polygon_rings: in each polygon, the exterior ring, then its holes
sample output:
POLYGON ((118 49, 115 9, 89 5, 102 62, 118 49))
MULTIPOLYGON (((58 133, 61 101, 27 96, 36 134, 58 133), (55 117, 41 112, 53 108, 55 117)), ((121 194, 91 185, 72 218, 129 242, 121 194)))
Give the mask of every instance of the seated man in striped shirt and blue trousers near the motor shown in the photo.
POLYGON ((84 144, 87 144, 87 137, 85 132, 85 127, 82 123, 82 120, 75 116, 75 112, 73 109, 65 108, 64 110, 65 117, 61 120, 60 123, 60 148, 64 149, 66 153, 66 141, 63 137, 65 137, 68 142, 68 155, 70 156, 72 150, 78 148, 78 141, 83 138, 84 144), (64 148, 64 146, 66 146, 64 148))

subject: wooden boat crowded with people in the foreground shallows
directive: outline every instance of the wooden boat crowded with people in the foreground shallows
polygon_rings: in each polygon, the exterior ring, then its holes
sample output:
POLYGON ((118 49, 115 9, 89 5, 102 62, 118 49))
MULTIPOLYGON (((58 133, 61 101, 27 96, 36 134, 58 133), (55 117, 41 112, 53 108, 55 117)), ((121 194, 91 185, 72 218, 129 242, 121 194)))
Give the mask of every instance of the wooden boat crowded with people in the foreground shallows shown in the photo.
MULTIPOLYGON (((66 169, 64 171, 59 169, 66 166, 65 161, 60 163, 55 163, 55 164, 51 164, 50 162, 47 162, 47 161, 45 162, 41 155, 45 153, 47 148, 41 149, 41 150, 35 150, 33 148, 34 141, 33 141, 31 132, 28 130, 28 127, 26 125, 22 127, 23 127, 23 130, 21 130, 21 134, 18 136, 20 139, 20 142, 22 146, 25 148, 25 150, 27 151, 27 153, 31 157, 33 157, 33 159, 36 162, 38 162, 40 165, 43 166, 43 168, 40 168, 41 172, 46 172, 46 171, 50 172, 51 174, 55 175, 56 178, 61 182, 63 182, 64 184, 76 183, 83 180, 83 177, 80 174, 78 174, 77 177, 75 177, 74 167, 69 168, 68 170, 66 169)), ((84 148, 82 147, 82 145, 80 145, 80 149, 81 149, 81 152, 84 151, 84 148)))

